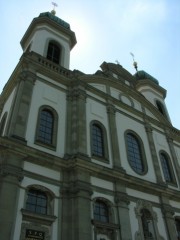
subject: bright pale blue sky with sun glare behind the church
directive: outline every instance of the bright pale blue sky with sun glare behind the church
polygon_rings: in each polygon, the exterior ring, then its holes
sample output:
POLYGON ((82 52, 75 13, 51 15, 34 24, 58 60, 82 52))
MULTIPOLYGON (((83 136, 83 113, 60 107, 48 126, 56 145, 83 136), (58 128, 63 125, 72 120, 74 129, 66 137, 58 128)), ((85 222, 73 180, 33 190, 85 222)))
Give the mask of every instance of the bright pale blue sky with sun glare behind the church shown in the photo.
MULTIPOLYGON (((70 69, 93 74, 116 60, 144 70, 167 90, 172 125, 180 129, 180 0, 54 0, 56 16, 68 22, 77 44, 70 69)), ((1 1, 0 92, 16 67, 20 40, 34 17, 53 9, 49 0, 1 1)))

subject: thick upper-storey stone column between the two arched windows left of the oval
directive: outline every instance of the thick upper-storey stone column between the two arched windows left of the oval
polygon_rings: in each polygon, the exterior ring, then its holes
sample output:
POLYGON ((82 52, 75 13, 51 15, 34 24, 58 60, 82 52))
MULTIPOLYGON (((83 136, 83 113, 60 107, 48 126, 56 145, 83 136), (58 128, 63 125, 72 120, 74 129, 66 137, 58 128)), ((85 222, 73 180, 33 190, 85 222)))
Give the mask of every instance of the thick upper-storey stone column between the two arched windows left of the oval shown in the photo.
POLYGON ((67 155, 87 157, 86 91, 79 81, 67 95, 67 155))

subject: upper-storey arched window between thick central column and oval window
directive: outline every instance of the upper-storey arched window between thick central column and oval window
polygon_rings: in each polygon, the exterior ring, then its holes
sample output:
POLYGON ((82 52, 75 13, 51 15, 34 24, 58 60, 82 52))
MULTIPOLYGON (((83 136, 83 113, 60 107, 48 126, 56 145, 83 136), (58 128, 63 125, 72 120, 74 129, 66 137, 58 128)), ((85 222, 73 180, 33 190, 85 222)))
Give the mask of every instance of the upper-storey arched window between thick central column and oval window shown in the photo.
POLYGON ((91 153, 98 160, 108 161, 108 145, 105 127, 98 121, 92 121, 91 128, 91 153))

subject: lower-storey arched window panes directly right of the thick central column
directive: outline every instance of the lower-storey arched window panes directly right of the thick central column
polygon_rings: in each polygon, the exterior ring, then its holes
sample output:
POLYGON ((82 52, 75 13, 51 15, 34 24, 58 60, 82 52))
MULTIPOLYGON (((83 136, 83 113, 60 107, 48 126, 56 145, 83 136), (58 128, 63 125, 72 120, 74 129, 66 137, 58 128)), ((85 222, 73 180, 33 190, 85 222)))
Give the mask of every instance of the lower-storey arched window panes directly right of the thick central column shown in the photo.
POLYGON ((99 222, 109 222, 109 209, 105 202, 96 200, 94 204, 94 219, 99 222))

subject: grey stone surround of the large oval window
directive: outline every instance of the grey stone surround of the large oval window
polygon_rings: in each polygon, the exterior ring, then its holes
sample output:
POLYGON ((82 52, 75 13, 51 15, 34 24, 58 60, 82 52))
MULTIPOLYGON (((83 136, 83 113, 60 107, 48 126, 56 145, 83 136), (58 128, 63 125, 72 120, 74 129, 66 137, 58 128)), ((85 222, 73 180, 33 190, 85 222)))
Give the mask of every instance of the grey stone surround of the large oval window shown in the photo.
POLYGON ((127 159, 128 159, 128 163, 129 163, 131 169, 138 175, 145 175, 148 172, 148 165, 147 165, 147 159, 146 159, 146 154, 145 154, 144 144, 142 142, 142 139, 137 135, 137 133, 135 133, 132 130, 126 130, 125 133, 124 133, 124 138, 125 138, 127 159), (143 167, 142 172, 137 171, 135 169, 135 167, 133 168, 133 166, 132 166, 132 162, 131 162, 131 159, 130 159, 130 156, 129 156, 129 146, 128 146, 128 139, 127 139, 128 135, 133 136, 134 139, 137 141, 137 144, 138 144, 138 147, 139 147, 138 149, 139 149, 140 157, 141 157, 140 160, 141 160, 142 167, 143 167))

